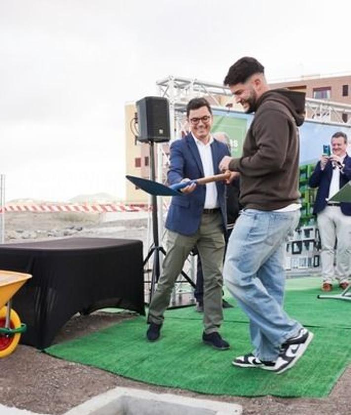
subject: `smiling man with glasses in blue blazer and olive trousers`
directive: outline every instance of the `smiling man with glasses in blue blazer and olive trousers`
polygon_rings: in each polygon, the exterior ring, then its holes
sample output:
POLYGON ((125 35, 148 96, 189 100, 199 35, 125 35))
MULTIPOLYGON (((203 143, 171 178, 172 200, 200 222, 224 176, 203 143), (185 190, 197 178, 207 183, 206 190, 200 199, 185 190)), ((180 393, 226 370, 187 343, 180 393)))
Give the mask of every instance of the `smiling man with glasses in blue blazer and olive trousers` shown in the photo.
MULTIPOLYGON (((221 173, 219 162, 229 155, 227 146, 211 136, 212 111, 204 98, 187 105, 190 133, 170 148, 169 184, 221 173)), ((234 178, 232 175, 231 179, 234 178)), ((212 347, 229 348, 218 330, 222 324, 222 264, 226 229, 225 183, 191 184, 183 194, 173 196, 166 219, 167 254, 149 307, 147 339, 160 336, 164 311, 169 305, 175 281, 196 245, 204 274, 204 331, 202 340, 212 347)))

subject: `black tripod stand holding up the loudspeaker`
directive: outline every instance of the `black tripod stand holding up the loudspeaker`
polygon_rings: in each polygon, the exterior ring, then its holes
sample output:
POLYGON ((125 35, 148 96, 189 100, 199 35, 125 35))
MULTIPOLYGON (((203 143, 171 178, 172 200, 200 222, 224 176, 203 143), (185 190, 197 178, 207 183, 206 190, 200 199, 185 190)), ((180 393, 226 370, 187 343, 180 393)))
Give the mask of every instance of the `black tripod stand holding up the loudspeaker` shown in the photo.
MULTIPOLYGON (((156 182, 156 174, 155 174, 155 146, 152 140, 149 140, 149 149, 150 149, 150 178, 153 182, 156 182)), ((149 259, 154 256, 153 268, 152 268, 152 275, 151 275, 151 285, 150 285, 150 294, 149 294, 149 302, 151 302, 152 297, 155 292, 155 286, 158 282, 160 276, 160 261, 159 255, 162 253, 164 256, 166 255, 166 251, 162 246, 159 244, 158 240, 158 217, 157 217, 157 196, 152 194, 151 195, 151 205, 152 205, 152 224, 153 224, 153 239, 154 239, 154 246, 152 246, 144 260, 143 265, 145 266, 149 259)), ((186 281, 195 288, 194 281, 182 270, 181 275, 186 279, 186 281)), ((192 302, 194 304, 194 302, 192 302)), ((189 304, 187 304, 189 305, 189 304)), ((181 305, 181 306, 184 306, 181 305)))

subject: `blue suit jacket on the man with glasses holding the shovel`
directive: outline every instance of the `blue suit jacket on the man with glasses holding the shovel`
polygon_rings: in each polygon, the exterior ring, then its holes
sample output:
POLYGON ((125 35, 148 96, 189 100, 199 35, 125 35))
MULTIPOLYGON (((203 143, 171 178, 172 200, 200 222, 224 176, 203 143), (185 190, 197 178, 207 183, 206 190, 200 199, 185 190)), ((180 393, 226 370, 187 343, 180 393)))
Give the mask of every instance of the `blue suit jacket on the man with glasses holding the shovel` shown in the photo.
MULTIPOLYGON (((211 144, 211 150, 214 174, 220 174, 219 162, 225 155, 230 155, 229 150, 225 144, 216 139, 211 144)), ((169 184, 179 183, 185 178, 199 179, 203 176, 200 153, 193 136, 188 134, 181 140, 174 141, 170 148, 169 184)), ((216 187, 225 231, 227 224, 226 185, 224 182, 216 182, 216 187)), ((173 196, 166 219, 166 228, 183 235, 194 234, 200 226, 205 195, 206 186, 196 186, 192 193, 173 196)))

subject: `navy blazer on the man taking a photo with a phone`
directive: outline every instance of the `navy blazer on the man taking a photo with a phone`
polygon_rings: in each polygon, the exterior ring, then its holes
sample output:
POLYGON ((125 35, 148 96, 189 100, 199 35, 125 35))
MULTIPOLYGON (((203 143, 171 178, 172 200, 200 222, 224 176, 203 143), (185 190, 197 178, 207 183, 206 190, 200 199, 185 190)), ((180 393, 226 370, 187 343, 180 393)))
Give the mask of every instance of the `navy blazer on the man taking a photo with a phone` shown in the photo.
MULTIPOLYGON (((351 157, 346 155, 344 163, 344 173, 340 172, 340 189, 351 180, 351 157)), ((313 213, 315 215, 321 212, 327 205, 326 199, 329 196, 329 188, 332 175, 333 166, 331 161, 327 162, 327 164, 324 167, 324 170, 320 169, 320 161, 318 161, 309 180, 309 185, 311 188, 318 187, 317 196, 315 198, 313 207, 313 213)), ((351 203, 341 202, 340 207, 344 215, 351 216, 351 203)))

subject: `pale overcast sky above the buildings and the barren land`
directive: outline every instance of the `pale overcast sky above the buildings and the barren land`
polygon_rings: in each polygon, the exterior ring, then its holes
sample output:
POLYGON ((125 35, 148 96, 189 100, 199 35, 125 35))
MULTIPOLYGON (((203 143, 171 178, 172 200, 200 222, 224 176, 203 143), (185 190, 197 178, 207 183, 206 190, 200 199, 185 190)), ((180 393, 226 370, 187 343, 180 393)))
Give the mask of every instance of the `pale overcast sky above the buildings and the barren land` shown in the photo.
POLYGON ((351 73, 346 1, 0 0, 6 200, 124 196, 124 104, 168 75, 351 73))

